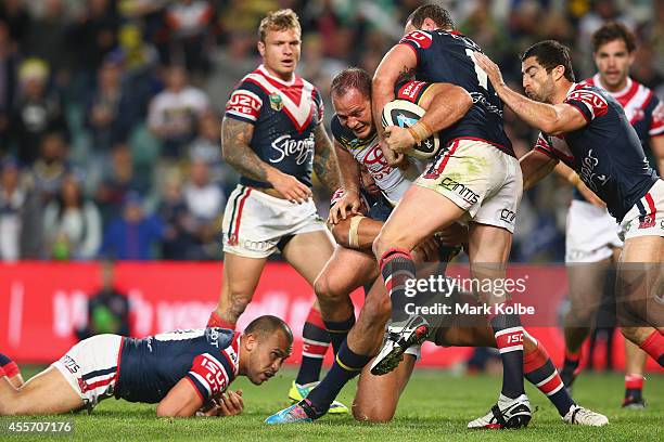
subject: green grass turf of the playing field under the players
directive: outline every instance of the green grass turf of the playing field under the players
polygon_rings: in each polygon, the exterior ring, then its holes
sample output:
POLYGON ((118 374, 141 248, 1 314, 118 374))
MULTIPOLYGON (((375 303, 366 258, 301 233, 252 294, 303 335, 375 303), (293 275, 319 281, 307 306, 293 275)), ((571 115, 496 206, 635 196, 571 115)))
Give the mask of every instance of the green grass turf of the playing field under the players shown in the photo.
MULTIPOLYGON (((664 376, 651 375, 646 384, 648 407, 623 411, 622 376, 584 374, 575 385, 578 403, 609 416, 603 428, 564 425, 556 410, 536 390, 528 389, 532 404, 539 410, 527 429, 519 431, 469 431, 467 422, 486 412, 496 400, 500 379, 491 376, 458 377, 446 372, 419 370, 408 386, 395 419, 386 425, 355 422, 349 416, 323 417, 316 424, 266 426, 263 420, 288 405, 286 391, 294 372, 284 372, 261 387, 240 378, 233 388, 244 389, 245 412, 229 418, 157 419, 154 405, 130 404, 113 399, 101 403, 91 416, 86 414, 17 420, 63 420, 75 422, 75 439, 80 441, 251 441, 320 440, 320 441, 439 441, 439 440, 509 440, 569 441, 586 439, 616 441, 664 440, 664 376)), ((529 387, 529 386, 528 386, 529 387)), ((350 404, 355 384, 340 396, 350 404)), ((10 418, 0 417, 7 427, 10 418)), ((15 418, 14 418, 15 419, 15 418)), ((10 437, 0 440, 63 440, 46 437, 10 437)))

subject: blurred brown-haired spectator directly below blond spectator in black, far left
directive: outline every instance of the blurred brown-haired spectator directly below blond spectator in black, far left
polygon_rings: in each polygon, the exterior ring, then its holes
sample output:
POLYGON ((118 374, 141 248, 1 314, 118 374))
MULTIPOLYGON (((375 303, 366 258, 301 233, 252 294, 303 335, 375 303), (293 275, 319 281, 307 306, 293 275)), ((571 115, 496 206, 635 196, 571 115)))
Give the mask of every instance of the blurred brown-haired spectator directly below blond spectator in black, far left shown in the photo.
POLYGON ((48 204, 59 192, 69 168, 67 144, 60 132, 46 133, 41 140, 40 155, 30 169, 35 190, 42 204, 48 204))

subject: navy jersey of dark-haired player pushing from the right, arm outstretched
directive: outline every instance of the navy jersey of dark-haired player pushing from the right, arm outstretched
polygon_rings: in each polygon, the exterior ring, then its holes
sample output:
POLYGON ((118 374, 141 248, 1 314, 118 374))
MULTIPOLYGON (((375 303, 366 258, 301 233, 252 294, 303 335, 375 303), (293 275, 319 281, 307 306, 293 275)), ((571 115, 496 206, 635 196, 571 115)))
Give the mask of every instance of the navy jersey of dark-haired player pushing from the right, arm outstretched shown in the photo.
POLYGON ((540 133, 535 150, 573 168, 621 222, 657 180, 641 142, 621 104, 587 83, 573 84, 565 103, 580 112, 587 125, 561 135, 540 133))

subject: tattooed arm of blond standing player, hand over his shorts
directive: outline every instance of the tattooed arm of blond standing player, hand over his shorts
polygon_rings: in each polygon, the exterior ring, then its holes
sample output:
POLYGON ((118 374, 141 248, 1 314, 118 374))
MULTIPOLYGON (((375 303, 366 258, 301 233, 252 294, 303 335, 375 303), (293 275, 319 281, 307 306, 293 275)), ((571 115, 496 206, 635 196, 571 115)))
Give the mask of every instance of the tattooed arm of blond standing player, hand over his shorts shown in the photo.
POLYGON ((221 121, 221 153, 224 160, 242 176, 270 183, 285 199, 302 203, 311 196, 311 190, 295 177, 263 161, 250 147, 254 127, 232 118, 221 121))

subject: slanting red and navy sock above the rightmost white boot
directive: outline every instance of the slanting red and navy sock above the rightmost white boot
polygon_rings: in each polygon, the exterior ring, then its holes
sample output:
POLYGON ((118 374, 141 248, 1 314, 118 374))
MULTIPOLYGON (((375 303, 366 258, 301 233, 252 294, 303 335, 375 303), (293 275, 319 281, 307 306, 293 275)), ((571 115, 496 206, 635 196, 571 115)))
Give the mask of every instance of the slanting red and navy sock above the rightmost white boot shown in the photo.
POLYGON ((523 355, 523 368, 528 382, 549 398, 561 416, 566 415, 574 401, 541 343, 537 342, 535 350, 523 355))

